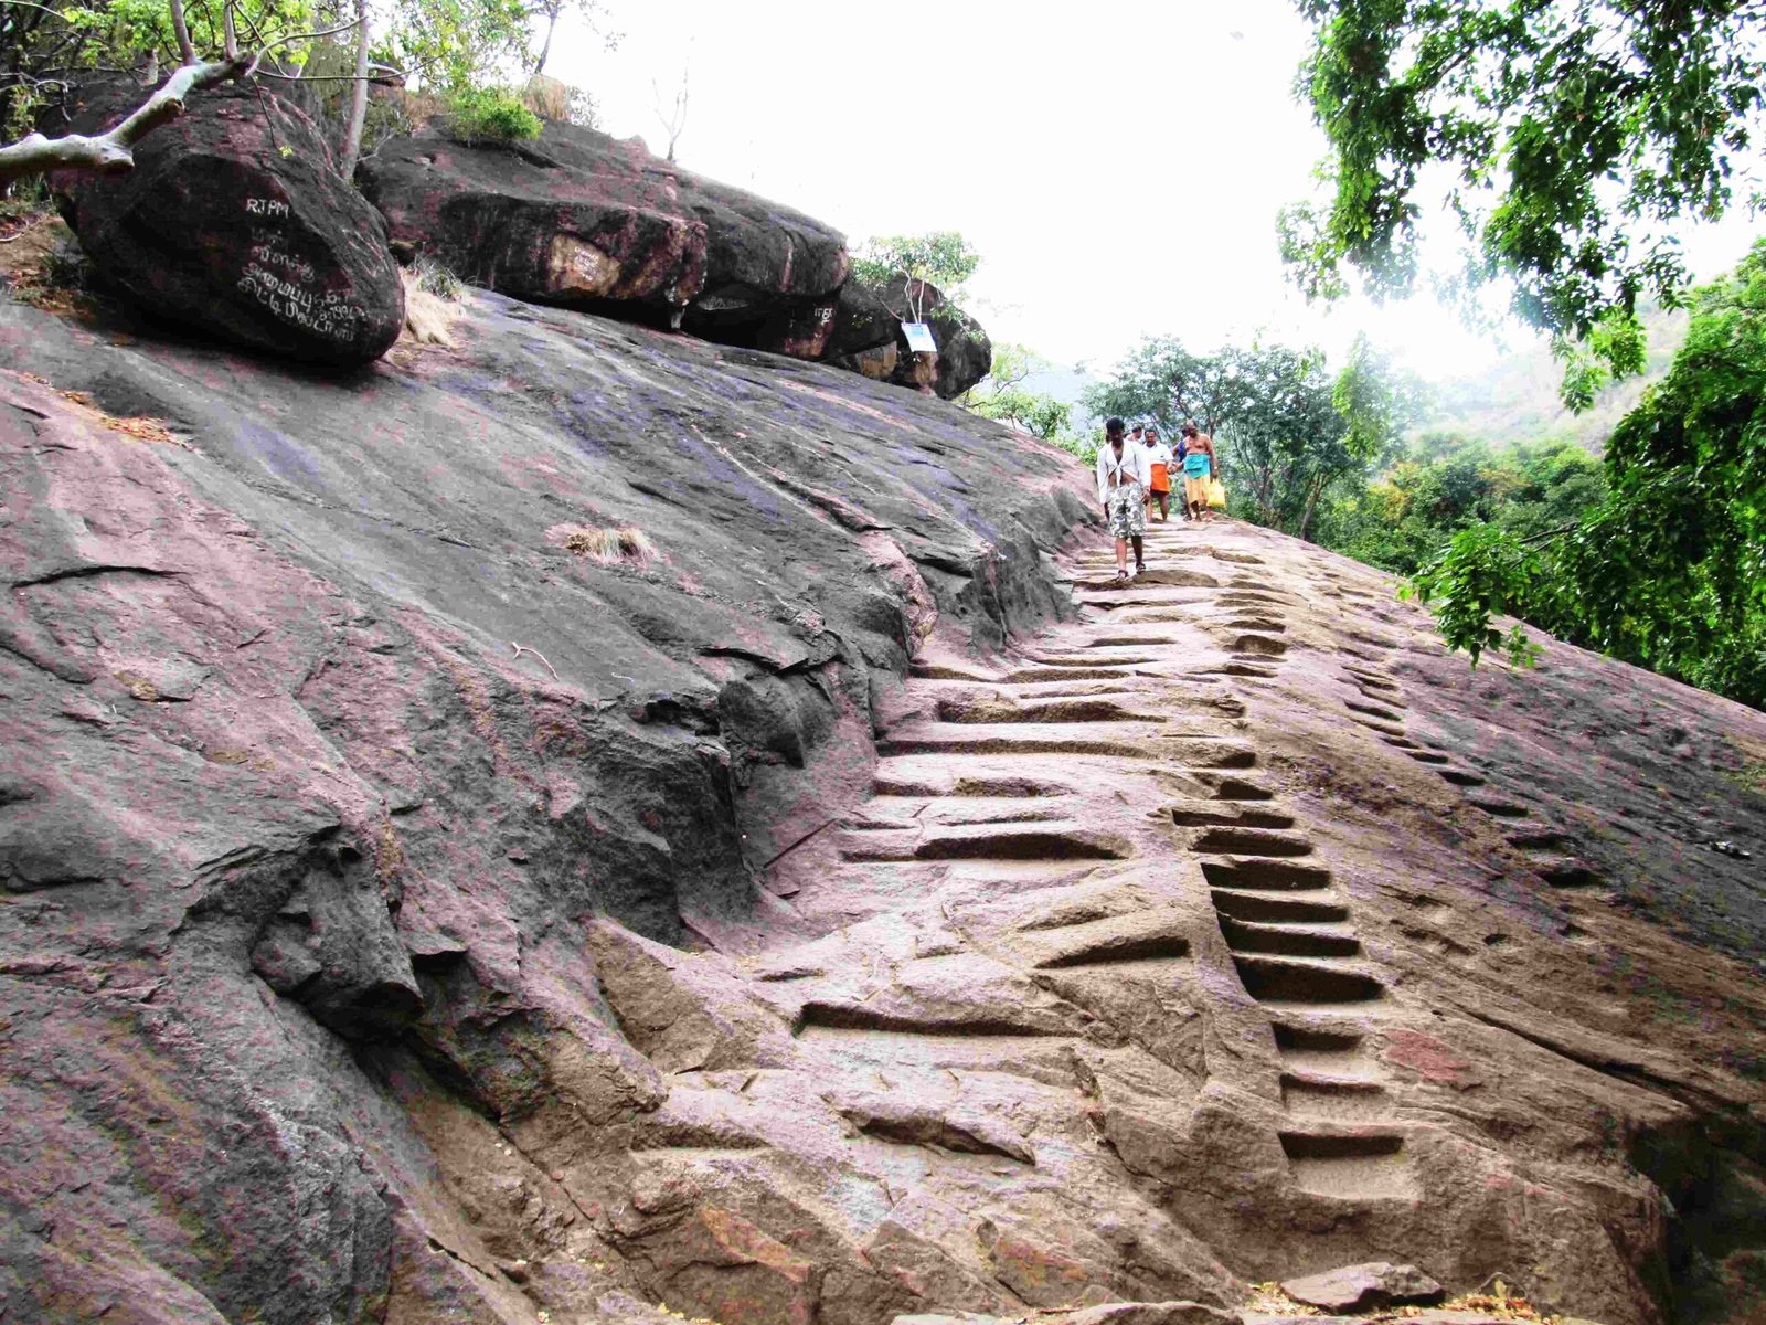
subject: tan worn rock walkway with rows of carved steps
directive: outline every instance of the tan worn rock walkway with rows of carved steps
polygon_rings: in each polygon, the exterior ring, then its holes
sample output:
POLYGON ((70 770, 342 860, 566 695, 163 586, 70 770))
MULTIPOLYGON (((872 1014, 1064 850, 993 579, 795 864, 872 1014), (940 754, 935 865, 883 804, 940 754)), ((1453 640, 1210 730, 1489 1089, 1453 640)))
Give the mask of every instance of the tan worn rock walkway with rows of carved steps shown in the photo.
POLYGON ((736 1210, 830 1321, 1222 1307, 1379 1258, 1646 1325, 1611 1230, 1658 1196, 1602 1118, 1674 1106, 1513 975, 1612 924, 1547 887, 1575 806, 1441 703, 1469 673, 1376 572, 1233 521, 1146 553, 1114 583, 1077 548, 1077 618, 1001 654, 934 634, 758 942, 606 940, 622 1025, 706 1009, 645 1032, 671 1094, 622 1237, 699 1256, 676 1203, 736 1210))

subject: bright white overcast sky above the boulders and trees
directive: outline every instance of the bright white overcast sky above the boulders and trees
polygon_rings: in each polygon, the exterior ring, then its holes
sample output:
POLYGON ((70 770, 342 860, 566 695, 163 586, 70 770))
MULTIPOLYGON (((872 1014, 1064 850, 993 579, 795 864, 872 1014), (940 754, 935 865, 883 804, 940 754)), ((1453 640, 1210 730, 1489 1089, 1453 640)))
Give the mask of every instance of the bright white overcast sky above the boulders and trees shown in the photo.
MULTIPOLYGON (((853 244, 962 231, 982 254, 970 306, 996 341, 1098 371, 1143 334, 1340 353, 1365 330, 1429 378, 1533 344, 1471 332, 1427 293, 1326 311, 1291 292, 1275 214, 1324 145, 1293 97, 1309 34, 1289 0, 606 5, 618 49, 567 25, 547 65, 595 95, 604 129, 662 150, 652 80, 668 102, 691 69, 682 166, 853 244)), ((1732 265, 1750 230, 1738 212, 1695 237, 1694 269, 1732 265)))

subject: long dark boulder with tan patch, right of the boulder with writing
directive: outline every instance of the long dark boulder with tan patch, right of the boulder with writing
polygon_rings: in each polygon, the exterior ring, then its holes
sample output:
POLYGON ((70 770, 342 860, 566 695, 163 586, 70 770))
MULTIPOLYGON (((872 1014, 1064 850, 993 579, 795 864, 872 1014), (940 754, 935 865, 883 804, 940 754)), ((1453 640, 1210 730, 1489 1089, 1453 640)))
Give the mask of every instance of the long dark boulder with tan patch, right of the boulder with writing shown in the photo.
POLYGON ((849 269, 819 221, 569 124, 509 147, 431 125, 360 180, 396 244, 475 284, 800 359, 821 357, 849 269))

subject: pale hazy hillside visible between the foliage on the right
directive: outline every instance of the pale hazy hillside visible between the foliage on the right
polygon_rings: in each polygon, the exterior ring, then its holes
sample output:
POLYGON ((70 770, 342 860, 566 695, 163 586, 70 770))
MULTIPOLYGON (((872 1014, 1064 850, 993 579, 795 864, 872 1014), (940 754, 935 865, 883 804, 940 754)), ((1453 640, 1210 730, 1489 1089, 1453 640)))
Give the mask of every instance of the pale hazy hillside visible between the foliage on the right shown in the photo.
POLYGON ((1558 387, 1563 366, 1549 346, 1499 359, 1483 373, 1430 383, 1434 412, 1415 428, 1423 433, 1459 433, 1466 438, 1505 445, 1542 438, 1570 438, 1600 454, 1607 438, 1657 382, 1687 339, 1685 309, 1653 309, 1644 314, 1648 364, 1642 376, 1628 378, 1595 399, 1595 408, 1575 415, 1563 408, 1558 387))

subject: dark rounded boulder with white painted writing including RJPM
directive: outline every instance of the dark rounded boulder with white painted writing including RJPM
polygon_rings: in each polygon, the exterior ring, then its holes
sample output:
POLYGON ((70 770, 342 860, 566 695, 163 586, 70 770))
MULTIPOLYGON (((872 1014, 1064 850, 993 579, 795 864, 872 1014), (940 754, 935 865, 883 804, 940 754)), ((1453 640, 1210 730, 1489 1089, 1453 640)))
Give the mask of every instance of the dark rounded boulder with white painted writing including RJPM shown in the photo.
MULTIPOLYGON (((71 129, 102 132, 141 95, 95 90, 71 129)), ((261 88, 205 92, 134 161, 125 175, 51 184, 99 272, 148 313, 336 367, 397 339, 404 284, 380 216, 302 111, 261 88)))

